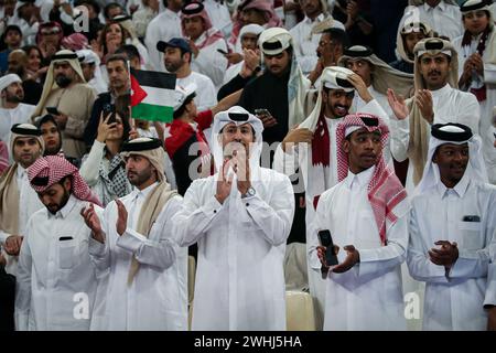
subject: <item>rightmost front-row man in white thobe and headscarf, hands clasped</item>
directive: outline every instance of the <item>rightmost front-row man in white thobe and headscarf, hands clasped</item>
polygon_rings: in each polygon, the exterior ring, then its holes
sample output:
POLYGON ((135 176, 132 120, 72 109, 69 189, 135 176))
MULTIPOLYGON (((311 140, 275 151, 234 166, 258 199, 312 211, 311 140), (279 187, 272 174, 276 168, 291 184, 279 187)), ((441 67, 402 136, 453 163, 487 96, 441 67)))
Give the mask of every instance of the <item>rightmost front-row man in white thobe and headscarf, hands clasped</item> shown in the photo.
POLYGON ((428 163, 412 199, 408 268, 425 282, 423 330, 485 330, 496 188, 481 138, 460 124, 432 126, 428 163))

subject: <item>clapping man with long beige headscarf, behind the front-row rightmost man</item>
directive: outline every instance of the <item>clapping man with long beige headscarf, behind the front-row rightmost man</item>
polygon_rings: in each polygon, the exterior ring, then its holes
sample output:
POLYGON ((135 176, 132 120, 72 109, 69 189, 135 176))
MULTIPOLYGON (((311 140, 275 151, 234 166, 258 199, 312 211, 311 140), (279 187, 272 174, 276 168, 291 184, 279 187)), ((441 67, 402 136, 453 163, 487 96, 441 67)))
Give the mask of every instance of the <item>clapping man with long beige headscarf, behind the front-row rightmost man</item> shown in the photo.
POLYGON ((457 53, 438 38, 418 42, 414 53, 416 95, 405 101, 388 89, 393 111, 391 152, 399 162, 409 158, 407 189, 422 178, 429 149, 430 125, 459 122, 478 133, 479 105, 473 94, 457 89, 457 53), (396 119, 395 119, 396 117, 396 119))

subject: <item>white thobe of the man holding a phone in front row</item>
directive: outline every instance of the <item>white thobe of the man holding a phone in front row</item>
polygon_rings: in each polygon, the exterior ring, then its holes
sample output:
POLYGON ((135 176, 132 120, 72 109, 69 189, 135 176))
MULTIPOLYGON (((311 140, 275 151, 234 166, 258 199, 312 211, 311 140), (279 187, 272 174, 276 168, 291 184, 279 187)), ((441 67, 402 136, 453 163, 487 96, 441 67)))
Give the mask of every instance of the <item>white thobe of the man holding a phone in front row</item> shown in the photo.
POLYGON ((381 246, 367 196, 374 170, 357 175, 348 171, 346 179, 319 201, 313 236, 319 229, 331 231, 339 246, 339 263, 346 245, 354 245, 360 256, 348 271, 328 272, 324 330, 406 330, 400 265, 408 245, 408 213, 392 225, 387 221, 388 244, 381 246))

